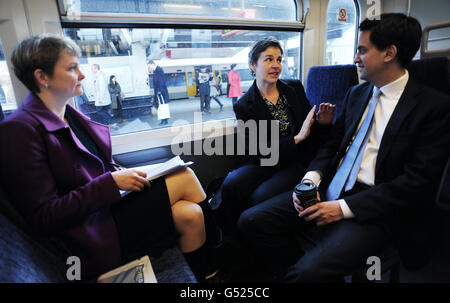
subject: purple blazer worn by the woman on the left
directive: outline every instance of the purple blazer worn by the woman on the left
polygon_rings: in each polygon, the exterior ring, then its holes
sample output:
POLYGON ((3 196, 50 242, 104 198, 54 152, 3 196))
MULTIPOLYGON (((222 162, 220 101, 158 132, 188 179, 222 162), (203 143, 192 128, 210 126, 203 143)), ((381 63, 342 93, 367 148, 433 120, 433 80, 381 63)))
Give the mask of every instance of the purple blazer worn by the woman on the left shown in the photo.
POLYGON ((104 165, 112 162, 109 128, 70 105, 66 110, 103 158, 91 154, 69 126, 29 93, 0 124, 1 184, 31 228, 80 257, 83 276, 103 273, 121 261, 110 211, 120 193, 104 165))

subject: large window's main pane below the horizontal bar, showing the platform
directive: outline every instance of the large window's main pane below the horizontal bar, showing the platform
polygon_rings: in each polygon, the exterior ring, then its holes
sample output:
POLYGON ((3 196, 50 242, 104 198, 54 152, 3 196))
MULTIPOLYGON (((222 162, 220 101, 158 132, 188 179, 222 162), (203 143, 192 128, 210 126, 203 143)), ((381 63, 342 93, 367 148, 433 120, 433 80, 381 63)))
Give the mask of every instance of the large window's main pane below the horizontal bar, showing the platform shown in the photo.
POLYGON ((283 45, 282 78, 299 78, 299 32, 66 28, 64 33, 72 37, 83 51, 80 63, 86 76, 83 80, 85 94, 77 98, 77 106, 93 120, 112 125, 113 135, 234 119, 232 101, 227 96, 228 72, 231 64, 237 64, 241 88, 246 92, 253 83, 248 67, 249 47, 263 37, 274 36, 283 45), (162 71, 153 71, 151 66, 147 66, 149 60, 154 60, 162 71), (98 65, 100 70, 97 72, 93 65, 98 65), (217 99, 223 104, 221 108, 217 101, 211 99, 211 113, 203 115, 198 89, 202 66, 210 76, 210 86, 218 89, 217 99), (164 80, 161 80, 162 75, 164 80), (115 76, 120 85, 121 108, 96 106, 96 99, 113 100, 111 96, 117 95, 117 91, 112 89, 110 95, 107 88, 111 76, 115 76), (171 114, 168 123, 162 125, 154 101, 155 84, 160 86, 161 82, 165 82, 168 89, 171 114))

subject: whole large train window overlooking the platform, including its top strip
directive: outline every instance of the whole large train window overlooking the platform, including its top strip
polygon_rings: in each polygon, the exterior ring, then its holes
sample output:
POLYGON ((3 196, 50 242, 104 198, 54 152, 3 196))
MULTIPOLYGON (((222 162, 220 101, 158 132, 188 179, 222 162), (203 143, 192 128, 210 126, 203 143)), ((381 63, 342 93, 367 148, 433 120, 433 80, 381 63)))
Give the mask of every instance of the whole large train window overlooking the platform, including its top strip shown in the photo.
POLYGON ((82 49, 85 94, 77 98, 76 105, 91 119, 110 125, 114 154, 173 144, 170 138, 176 137, 180 128, 197 132, 200 125, 200 136, 204 136, 212 132, 202 127, 222 123, 223 132, 214 134, 234 131, 235 114, 227 95, 228 72, 232 64, 237 65, 245 93, 254 80, 248 52, 255 40, 277 38, 284 50, 282 78, 301 77, 304 25, 297 21, 302 13, 301 1, 277 1, 276 5, 272 1, 257 2, 81 0, 77 18, 68 8, 61 12, 63 33, 82 49), (186 5, 202 9, 189 10, 186 5), (212 5, 214 13, 209 11, 212 5), (221 7, 235 11, 235 6, 241 12, 252 7, 255 14, 222 14, 226 10, 221 7), (266 16, 270 10, 272 13, 266 16), (276 12, 284 15, 276 16, 276 12), (282 21, 274 21, 276 18, 282 21), (220 102, 211 99, 210 110, 204 113, 199 98, 202 67, 216 76, 210 78, 210 85, 218 90, 220 102), (110 107, 96 106, 98 90, 108 92, 112 78, 120 85, 120 105, 113 97, 110 107), (160 91, 169 101, 171 114, 164 122, 157 116, 155 86, 167 87, 167 93, 160 91))

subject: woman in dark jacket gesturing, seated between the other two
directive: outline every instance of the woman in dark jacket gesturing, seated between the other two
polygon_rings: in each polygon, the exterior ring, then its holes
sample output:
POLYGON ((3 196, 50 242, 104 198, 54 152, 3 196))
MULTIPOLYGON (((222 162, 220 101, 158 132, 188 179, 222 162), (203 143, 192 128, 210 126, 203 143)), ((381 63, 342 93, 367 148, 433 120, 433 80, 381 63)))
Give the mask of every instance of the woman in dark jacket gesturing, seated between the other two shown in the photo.
POLYGON ((223 182, 219 217, 226 233, 234 230, 242 211, 301 181, 334 117, 335 106, 322 103, 315 122, 316 108, 311 108, 301 82, 279 80, 282 54, 274 38, 254 44, 249 65, 256 79, 233 104, 238 150, 244 136, 246 161, 223 182))

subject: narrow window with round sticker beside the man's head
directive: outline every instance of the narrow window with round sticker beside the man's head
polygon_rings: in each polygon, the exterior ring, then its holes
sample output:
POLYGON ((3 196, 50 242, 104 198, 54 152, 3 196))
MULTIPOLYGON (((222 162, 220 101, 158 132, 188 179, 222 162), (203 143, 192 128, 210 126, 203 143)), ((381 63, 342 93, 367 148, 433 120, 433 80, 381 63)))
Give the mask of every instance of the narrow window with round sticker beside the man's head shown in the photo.
POLYGON ((354 0, 330 0, 328 3, 325 60, 328 65, 353 63, 358 19, 354 0))

